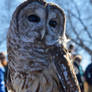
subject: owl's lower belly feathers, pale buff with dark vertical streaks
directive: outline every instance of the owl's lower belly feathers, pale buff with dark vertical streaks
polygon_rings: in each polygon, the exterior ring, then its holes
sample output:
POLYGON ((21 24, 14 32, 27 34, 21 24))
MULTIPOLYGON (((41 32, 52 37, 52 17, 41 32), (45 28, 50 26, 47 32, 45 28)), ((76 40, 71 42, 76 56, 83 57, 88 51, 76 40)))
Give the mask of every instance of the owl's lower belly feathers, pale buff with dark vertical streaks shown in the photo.
POLYGON ((59 79, 53 62, 43 70, 15 72, 12 76, 15 92, 62 92, 59 91, 59 79))

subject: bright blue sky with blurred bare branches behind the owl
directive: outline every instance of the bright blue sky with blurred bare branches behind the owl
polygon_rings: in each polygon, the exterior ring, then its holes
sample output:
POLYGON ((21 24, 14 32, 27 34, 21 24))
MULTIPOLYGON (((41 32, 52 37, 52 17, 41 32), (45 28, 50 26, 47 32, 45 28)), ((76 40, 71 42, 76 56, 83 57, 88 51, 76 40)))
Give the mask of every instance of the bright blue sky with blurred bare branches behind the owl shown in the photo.
MULTIPOLYGON (((66 13, 66 33, 76 45, 84 62, 92 61, 92 0, 47 0, 54 2, 66 13)), ((6 51, 6 33, 15 8, 23 0, 3 0, 0 5, 0 51, 6 51)))

